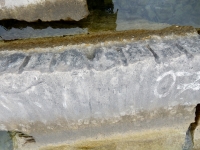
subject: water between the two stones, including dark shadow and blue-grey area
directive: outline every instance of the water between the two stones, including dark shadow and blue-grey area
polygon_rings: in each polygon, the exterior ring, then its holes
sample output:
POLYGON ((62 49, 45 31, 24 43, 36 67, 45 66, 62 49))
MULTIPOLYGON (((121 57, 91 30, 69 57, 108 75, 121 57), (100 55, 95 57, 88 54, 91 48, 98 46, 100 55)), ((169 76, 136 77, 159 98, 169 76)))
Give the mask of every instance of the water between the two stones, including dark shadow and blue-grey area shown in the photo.
POLYGON ((103 31, 200 28, 199 0, 88 0, 90 15, 79 22, 0 21, 0 40, 91 34, 103 31))

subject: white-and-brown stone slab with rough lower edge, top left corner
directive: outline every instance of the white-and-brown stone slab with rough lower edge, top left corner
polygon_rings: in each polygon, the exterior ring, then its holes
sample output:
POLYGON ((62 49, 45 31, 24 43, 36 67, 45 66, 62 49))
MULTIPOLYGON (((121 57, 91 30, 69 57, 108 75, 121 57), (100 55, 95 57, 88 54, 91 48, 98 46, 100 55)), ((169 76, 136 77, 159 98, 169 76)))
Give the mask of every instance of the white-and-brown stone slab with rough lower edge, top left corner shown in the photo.
POLYGON ((86 0, 0 0, 0 14, 0 20, 79 21, 89 12, 86 0))

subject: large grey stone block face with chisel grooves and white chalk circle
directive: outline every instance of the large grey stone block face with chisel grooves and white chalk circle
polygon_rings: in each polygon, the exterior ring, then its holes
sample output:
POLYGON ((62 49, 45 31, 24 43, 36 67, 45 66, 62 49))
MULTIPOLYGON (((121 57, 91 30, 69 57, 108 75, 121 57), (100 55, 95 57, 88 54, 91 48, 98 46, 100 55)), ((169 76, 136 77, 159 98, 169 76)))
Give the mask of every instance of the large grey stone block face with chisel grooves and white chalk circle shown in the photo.
POLYGON ((166 127, 180 148, 200 102, 199 47, 190 34, 1 51, 0 129, 45 145, 166 127))

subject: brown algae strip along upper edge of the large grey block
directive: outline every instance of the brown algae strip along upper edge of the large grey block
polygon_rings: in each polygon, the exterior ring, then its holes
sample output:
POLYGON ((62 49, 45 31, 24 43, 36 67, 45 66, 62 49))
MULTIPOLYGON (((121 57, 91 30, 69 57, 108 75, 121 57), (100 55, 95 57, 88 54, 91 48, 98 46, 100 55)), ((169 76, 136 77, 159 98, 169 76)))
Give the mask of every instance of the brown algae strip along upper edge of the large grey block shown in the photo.
POLYGON ((191 26, 170 26, 161 30, 129 30, 129 31, 105 31, 87 35, 74 35, 64 37, 37 38, 26 40, 0 41, 0 50, 28 50, 31 48, 46 48, 55 46, 67 46, 74 44, 96 44, 106 41, 142 40, 151 36, 186 35, 197 32, 191 26))

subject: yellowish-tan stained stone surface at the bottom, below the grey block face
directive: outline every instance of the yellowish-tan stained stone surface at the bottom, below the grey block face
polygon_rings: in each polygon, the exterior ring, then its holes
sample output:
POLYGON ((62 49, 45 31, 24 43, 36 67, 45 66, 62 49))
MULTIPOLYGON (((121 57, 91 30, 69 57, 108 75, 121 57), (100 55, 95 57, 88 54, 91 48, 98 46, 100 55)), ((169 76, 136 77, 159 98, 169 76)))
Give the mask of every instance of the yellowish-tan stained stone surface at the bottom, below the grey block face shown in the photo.
POLYGON ((74 144, 47 146, 40 150, 177 150, 183 138, 178 130, 140 131, 106 138, 86 139, 74 144))

